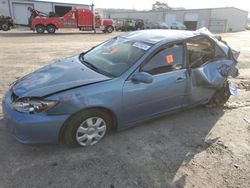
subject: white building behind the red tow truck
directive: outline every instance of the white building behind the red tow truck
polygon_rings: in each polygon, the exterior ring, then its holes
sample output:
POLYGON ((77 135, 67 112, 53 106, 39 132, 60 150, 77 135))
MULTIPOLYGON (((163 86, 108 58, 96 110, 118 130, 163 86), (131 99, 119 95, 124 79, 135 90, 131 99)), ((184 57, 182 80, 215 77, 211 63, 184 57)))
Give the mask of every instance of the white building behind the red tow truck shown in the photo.
POLYGON ((58 16, 63 16, 72 8, 90 8, 84 4, 57 3, 51 1, 38 0, 0 0, 0 15, 11 16, 16 24, 28 25, 30 12, 28 7, 33 7, 40 12, 49 14, 55 12, 58 16))

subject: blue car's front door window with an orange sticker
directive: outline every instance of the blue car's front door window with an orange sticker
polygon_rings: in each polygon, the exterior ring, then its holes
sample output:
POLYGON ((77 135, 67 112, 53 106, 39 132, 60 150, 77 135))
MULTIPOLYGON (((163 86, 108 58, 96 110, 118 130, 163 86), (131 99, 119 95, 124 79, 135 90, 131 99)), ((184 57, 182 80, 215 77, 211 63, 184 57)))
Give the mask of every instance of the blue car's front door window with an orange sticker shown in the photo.
POLYGON ((183 68, 183 45, 175 44, 161 49, 140 71, 156 75, 181 68, 183 68))

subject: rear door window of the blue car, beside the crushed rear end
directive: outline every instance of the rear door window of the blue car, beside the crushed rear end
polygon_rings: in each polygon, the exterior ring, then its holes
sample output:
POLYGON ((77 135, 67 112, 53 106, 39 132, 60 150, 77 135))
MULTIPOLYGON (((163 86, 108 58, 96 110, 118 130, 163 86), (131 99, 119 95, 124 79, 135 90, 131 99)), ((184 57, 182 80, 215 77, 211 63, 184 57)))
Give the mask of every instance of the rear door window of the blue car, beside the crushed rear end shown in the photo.
POLYGON ((226 58, 223 51, 206 37, 198 37, 187 41, 190 68, 221 58, 226 58))

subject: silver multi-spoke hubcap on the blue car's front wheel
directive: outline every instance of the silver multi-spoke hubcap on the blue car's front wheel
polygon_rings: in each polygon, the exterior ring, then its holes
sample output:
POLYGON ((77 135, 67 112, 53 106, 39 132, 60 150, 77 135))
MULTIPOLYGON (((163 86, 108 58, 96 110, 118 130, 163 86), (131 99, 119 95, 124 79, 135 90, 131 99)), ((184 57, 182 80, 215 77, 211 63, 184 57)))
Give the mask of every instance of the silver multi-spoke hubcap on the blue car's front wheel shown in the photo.
POLYGON ((84 120, 76 131, 76 141, 81 146, 94 145, 105 135, 106 122, 100 117, 90 117, 84 120))

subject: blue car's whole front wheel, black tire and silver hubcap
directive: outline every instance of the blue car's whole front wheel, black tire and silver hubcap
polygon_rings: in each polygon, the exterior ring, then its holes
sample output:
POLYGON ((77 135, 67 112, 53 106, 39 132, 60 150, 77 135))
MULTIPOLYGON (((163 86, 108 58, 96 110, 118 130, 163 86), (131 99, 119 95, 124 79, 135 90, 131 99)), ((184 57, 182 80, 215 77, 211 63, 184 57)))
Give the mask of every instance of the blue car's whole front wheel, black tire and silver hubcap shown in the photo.
POLYGON ((62 142, 68 146, 92 146, 98 143, 112 125, 107 113, 99 110, 80 112, 71 117, 64 125, 62 142))

